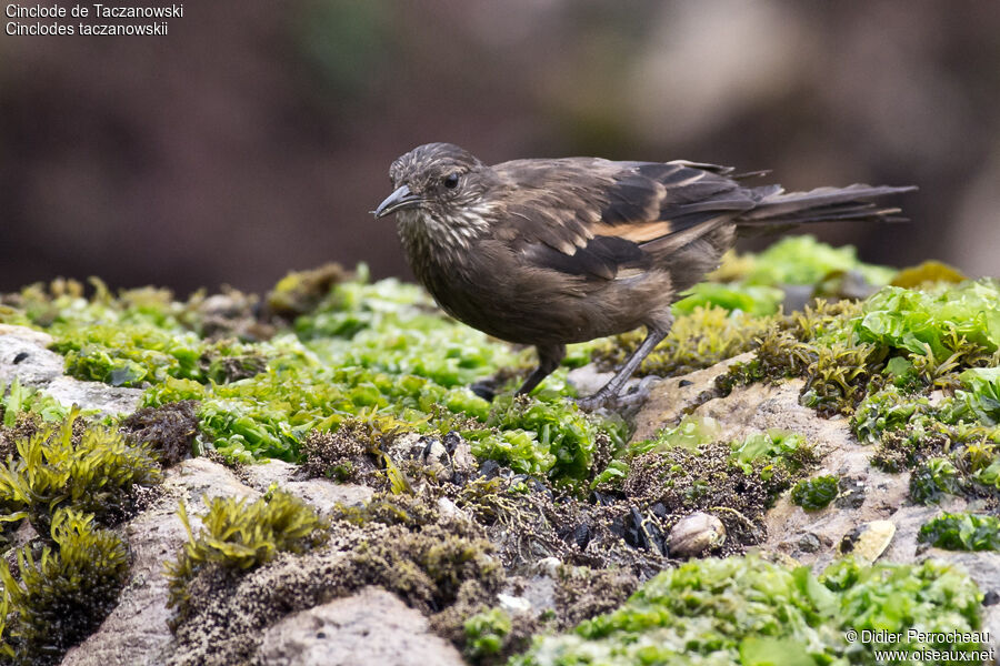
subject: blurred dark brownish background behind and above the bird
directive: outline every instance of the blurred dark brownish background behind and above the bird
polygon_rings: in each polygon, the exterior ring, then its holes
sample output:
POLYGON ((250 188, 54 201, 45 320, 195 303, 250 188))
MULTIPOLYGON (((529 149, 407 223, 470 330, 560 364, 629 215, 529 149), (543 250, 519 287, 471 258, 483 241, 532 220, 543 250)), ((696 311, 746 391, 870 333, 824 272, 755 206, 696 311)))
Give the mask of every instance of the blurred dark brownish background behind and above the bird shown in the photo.
POLYGON ((428 141, 912 183, 911 224, 812 231, 1000 273, 996 2, 211 0, 169 30, 0 38, 0 291, 410 278, 368 211, 428 141))

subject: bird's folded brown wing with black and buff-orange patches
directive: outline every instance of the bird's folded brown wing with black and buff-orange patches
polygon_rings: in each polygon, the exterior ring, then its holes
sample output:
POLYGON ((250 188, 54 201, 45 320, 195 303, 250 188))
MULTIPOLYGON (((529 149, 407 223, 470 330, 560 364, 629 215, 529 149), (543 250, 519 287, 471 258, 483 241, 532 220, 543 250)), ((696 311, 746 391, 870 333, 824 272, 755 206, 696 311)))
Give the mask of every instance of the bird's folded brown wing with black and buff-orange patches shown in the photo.
POLYGON ((593 279, 648 268, 754 205, 731 169, 591 158, 493 168, 513 185, 496 230, 527 262, 593 279))

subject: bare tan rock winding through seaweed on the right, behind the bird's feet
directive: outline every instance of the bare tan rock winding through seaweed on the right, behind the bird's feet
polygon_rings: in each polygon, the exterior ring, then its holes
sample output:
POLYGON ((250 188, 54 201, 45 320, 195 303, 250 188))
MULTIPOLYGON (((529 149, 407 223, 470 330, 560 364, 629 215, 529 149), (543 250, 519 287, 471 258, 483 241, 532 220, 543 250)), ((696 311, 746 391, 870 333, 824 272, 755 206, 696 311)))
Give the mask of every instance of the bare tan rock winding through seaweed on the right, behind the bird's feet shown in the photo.
MULTIPOLYGON (((758 549, 788 556, 818 573, 841 555, 846 537, 857 539, 858 533, 868 532, 876 524, 880 536, 871 541, 878 545, 862 542, 862 549, 873 548, 868 559, 908 564, 934 557, 956 563, 969 572, 987 595, 987 602, 1000 599, 1000 554, 952 552, 918 544, 917 536, 924 523, 946 511, 968 511, 966 500, 948 496, 937 506, 910 505, 910 473, 889 474, 873 467, 870 460, 874 447, 858 443, 846 417, 823 418, 814 410, 800 405, 802 380, 777 386, 752 384, 736 389, 726 397, 698 404, 717 376, 749 356, 744 354, 656 384, 636 417, 638 431, 633 438, 652 436, 664 424, 677 422, 690 407, 693 415, 716 418, 722 427, 722 440, 738 440, 769 428, 800 433, 820 456, 814 475, 837 476, 841 488, 849 490, 841 491, 833 503, 817 512, 796 506, 786 493, 766 515, 767 539, 758 549), (891 527, 887 529, 887 526, 891 527)), ((983 625, 1000 652, 1000 603, 984 604, 983 625)))

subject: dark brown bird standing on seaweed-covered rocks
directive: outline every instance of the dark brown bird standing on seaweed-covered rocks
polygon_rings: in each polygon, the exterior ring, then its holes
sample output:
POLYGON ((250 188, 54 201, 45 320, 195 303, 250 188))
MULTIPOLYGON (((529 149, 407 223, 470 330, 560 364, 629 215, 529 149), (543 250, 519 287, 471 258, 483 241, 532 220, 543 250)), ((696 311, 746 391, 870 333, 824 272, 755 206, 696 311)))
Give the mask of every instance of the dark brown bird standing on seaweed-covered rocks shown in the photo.
POLYGON ((413 273, 453 317, 538 350, 518 393, 554 371, 566 345, 646 326, 646 340, 583 408, 617 400, 667 335, 670 305, 719 265, 741 231, 829 220, 888 221, 873 200, 916 188, 854 184, 786 193, 732 169, 676 160, 513 160, 488 167, 428 143, 389 170, 413 273))

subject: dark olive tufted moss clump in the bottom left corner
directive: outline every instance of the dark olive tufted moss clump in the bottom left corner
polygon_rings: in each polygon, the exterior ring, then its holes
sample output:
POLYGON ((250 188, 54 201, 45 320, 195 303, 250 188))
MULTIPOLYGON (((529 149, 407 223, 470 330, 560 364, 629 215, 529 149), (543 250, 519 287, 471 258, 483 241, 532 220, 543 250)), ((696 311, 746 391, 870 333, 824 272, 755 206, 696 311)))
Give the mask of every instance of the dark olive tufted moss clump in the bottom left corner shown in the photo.
POLYGON ((52 541, 36 559, 30 546, 18 551, 18 573, 0 561, 8 609, 8 656, 18 664, 56 664, 89 636, 118 603, 128 578, 126 546, 114 533, 96 529, 93 517, 60 508, 52 541), (11 653, 13 653, 11 655, 11 653))

